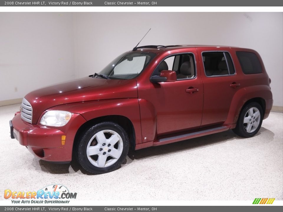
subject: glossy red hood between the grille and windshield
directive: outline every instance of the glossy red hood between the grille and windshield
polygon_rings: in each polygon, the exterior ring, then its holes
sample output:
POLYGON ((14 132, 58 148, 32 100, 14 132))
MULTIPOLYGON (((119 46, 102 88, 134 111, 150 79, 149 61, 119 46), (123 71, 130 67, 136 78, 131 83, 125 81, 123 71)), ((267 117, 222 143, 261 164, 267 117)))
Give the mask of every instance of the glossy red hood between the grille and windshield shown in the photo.
POLYGON ((41 113, 57 105, 94 100, 137 98, 136 80, 106 80, 84 77, 30 92, 25 99, 32 105, 32 123, 41 113))

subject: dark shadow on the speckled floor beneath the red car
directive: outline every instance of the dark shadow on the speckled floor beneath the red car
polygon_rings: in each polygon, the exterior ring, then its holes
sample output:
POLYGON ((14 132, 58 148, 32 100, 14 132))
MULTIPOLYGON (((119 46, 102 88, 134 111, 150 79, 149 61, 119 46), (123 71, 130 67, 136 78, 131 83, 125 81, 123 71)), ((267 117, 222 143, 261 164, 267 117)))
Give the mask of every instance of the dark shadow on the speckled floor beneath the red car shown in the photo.
MULTIPOLYGON (((256 138, 261 134, 264 134, 264 137, 269 139, 274 137, 274 133, 272 131, 264 127, 261 127, 259 132, 253 138, 256 138)), ((194 149, 206 148, 211 145, 219 145, 221 143, 230 140, 243 140, 243 139, 249 139, 249 138, 239 137, 232 130, 228 130, 225 132, 219 132, 212 135, 202 136, 199 138, 192 138, 189 140, 184 140, 167 145, 149 147, 136 151, 130 150, 128 157, 126 158, 122 166, 126 166, 130 164, 134 160, 139 160, 158 155, 172 154, 175 152, 182 152, 188 150, 192 151, 194 149)), ((39 160, 39 165, 42 171, 52 174, 67 174, 67 173, 71 174, 80 171, 81 173, 86 175, 93 175, 91 173, 88 173, 86 170, 84 170, 75 158, 73 158, 73 160, 68 164, 57 164, 57 163, 50 163, 45 160, 39 160)))

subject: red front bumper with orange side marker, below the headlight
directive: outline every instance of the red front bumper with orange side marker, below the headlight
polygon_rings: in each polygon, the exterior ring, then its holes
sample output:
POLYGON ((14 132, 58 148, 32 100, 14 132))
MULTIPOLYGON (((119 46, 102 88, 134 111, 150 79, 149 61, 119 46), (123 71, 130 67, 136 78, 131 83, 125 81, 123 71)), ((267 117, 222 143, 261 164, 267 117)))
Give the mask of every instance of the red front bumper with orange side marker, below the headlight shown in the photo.
POLYGON ((75 134, 85 121, 80 114, 72 114, 67 125, 52 128, 27 123, 21 119, 21 114, 18 113, 10 121, 11 138, 16 138, 37 158, 67 162, 72 160, 75 134), (61 143, 62 135, 66 135, 65 145, 61 143))

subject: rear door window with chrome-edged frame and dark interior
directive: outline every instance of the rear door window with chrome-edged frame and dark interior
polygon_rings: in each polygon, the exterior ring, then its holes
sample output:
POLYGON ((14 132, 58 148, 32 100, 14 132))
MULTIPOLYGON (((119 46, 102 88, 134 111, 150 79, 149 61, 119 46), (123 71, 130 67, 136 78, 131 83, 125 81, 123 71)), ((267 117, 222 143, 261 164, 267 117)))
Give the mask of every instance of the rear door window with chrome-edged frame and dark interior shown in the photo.
POLYGON ((235 68, 228 52, 203 52, 202 57, 207 77, 235 74, 235 68))

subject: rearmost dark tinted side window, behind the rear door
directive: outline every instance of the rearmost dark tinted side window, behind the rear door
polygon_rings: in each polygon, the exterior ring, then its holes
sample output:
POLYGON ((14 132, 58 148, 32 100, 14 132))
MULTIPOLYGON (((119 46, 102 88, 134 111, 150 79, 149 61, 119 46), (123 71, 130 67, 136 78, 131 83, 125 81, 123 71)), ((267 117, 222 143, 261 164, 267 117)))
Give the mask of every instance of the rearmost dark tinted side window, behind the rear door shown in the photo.
POLYGON ((252 52, 236 52, 244 74, 258 74, 262 72, 259 58, 252 52))

